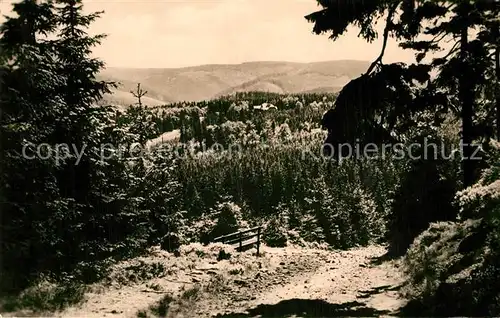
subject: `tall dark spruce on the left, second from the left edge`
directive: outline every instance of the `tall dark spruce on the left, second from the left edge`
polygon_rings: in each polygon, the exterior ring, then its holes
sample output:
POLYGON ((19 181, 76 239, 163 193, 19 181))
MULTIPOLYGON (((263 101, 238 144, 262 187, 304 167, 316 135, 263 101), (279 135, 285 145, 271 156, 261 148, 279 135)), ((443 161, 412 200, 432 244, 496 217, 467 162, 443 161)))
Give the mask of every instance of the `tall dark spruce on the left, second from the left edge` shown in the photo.
POLYGON ((57 65, 59 74, 66 79, 60 92, 65 109, 57 129, 65 142, 85 150, 78 163, 71 158, 58 175, 62 195, 74 199, 77 206, 74 218, 68 220, 74 234, 65 242, 65 262, 71 269, 76 261, 72 262, 70 256, 97 261, 109 257, 110 251, 114 256, 125 257, 141 249, 145 242, 140 237, 146 232, 148 211, 140 209, 139 202, 144 198, 137 197, 140 192, 136 189, 138 175, 144 170, 142 162, 132 162, 126 152, 105 162, 101 160, 103 144, 119 147, 125 141, 139 140, 139 136, 132 134, 129 138, 117 127, 115 113, 109 107, 96 104, 115 86, 96 79, 104 63, 90 57, 92 48, 104 35, 90 36, 86 30, 102 12, 85 15, 81 0, 56 3, 60 30, 55 44, 57 65), (132 171, 128 171, 128 162, 132 171), (125 240, 133 243, 124 246, 125 240))

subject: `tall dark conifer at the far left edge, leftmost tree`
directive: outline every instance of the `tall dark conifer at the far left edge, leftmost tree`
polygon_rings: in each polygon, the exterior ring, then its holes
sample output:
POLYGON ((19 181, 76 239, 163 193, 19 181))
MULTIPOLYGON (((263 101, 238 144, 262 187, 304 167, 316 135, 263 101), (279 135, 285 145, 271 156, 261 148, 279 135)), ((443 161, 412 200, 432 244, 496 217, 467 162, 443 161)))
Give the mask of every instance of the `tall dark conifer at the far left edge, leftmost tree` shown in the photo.
POLYGON ((7 17, 0 27, 0 288, 5 290, 24 287, 30 274, 46 265, 44 244, 53 237, 46 237, 41 222, 60 199, 57 167, 52 157, 41 159, 32 151, 53 134, 51 123, 62 106, 58 88, 64 84, 46 37, 56 27, 52 4, 22 1, 13 12, 17 17, 7 17))

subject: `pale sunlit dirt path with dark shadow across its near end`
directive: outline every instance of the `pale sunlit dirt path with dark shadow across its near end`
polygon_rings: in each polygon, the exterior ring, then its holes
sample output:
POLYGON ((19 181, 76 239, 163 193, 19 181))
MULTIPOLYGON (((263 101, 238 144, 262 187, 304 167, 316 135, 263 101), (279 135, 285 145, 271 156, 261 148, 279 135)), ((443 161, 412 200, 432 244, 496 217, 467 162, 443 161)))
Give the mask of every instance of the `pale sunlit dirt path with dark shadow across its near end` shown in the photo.
MULTIPOLYGON (((385 249, 368 247, 330 253, 313 272, 264 290, 246 308, 219 317, 391 316, 404 304, 394 263, 374 265, 385 249)), ((237 307, 237 305, 235 306, 237 307)))

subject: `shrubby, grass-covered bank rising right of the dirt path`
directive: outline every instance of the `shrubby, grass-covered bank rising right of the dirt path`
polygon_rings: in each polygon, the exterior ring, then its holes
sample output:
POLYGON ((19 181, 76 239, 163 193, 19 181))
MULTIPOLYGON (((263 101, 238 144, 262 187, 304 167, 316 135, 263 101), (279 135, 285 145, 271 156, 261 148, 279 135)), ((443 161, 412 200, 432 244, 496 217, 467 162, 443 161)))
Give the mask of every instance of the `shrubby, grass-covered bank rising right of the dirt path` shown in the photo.
POLYGON ((408 314, 500 314, 500 147, 493 148, 490 169, 457 193, 460 221, 431 225, 410 247, 404 259, 408 314))

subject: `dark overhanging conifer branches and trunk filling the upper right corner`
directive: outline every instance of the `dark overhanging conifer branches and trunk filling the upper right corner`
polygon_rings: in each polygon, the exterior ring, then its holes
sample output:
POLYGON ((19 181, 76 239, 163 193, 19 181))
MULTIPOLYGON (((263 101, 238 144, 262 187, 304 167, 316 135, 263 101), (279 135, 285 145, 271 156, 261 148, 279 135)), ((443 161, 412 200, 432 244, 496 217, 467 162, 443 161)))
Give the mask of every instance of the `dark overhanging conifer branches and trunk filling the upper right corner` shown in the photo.
MULTIPOLYGON (((349 26, 357 26, 360 37, 373 42, 379 35, 375 23, 382 15, 385 17, 379 57, 365 74, 342 90, 336 105, 340 109, 335 110, 341 114, 330 113, 326 125, 338 130, 335 127, 339 126, 337 117, 347 117, 351 119, 340 126, 361 128, 366 121, 380 117, 382 112, 382 120, 371 127, 378 135, 383 135, 381 128, 387 132, 398 128, 394 122, 407 127, 405 123, 415 111, 437 113, 437 125, 442 122, 443 115, 454 111, 462 120, 461 138, 466 158, 463 160, 463 180, 466 186, 472 185, 479 174, 475 173, 474 162, 468 159, 474 152, 474 147, 469 145, 491 136, 493 131, 496 102, 494 94, 487 92, 498 86, 498 77, 494 75, 494 51, 498 47, 500 3, 489 0, 334 0, 318 3, 322 9, 306 19, 314 23, 313 32, 328 33, 333 40, 349 26), (479 32, 474 34, 473 29, 479 32), (389 38, 399 41, 404 49, 414 50, 417 63, 385 65, 383 57, 389 38), (444 49, 450 42, 451 48, 444 49), (426 61, 429 53, 436 55, 426 61), (437 72, 436 78, 431 79, 431 71, 437 72), (419 83, 418 86, 415 83, 419 83), (353 97, 353 92, 357 93, 357 98, 353 97), (399 98, 391 98, 394 92, 399 98), (349 114, 359 115, 345 116, 346 107, 349 107, 349 114)), ((395 132, 403 134, 406 131, 396 129, 395 132)), ((342 136, 348 134, 336 131, 331 138, 338 141, 342 136)))

